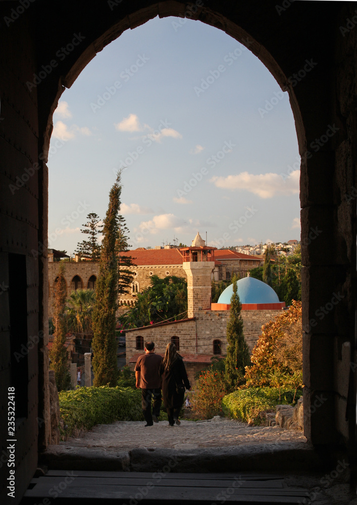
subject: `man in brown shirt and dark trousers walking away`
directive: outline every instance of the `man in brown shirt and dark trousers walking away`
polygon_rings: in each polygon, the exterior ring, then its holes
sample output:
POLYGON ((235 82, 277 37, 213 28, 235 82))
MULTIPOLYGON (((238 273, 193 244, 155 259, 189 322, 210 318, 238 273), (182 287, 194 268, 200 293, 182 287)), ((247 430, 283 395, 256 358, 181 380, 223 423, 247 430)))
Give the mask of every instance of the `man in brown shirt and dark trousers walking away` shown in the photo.
POLYGON ((141 407, 146 427, 159 422, 161 407, 161 377, 159 371, 163 359, 155 354, 154 342, 145 342, 144 350, 145 354, 139 356, 135 365, 135 379, 136 387, 141 388, 141 407))

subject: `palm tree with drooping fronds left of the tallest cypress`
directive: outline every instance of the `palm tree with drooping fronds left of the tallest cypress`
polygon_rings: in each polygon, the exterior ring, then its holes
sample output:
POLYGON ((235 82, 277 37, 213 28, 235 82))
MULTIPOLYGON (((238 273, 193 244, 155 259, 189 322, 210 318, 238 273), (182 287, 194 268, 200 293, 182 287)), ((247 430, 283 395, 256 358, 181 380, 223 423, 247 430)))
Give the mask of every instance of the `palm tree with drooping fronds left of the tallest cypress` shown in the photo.
POLYGON ((68 327, 75 333, 92 332, 92 311, 95 302, 94 289, 77 289, 67 299, 68 327))

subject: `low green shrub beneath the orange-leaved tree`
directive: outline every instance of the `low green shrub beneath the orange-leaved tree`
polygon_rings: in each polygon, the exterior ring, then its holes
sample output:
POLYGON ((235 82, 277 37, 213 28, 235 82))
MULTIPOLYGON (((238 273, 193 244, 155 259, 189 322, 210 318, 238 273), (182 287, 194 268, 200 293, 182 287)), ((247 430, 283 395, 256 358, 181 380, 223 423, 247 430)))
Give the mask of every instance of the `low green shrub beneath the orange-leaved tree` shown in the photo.
MULTIPOLYGON (((222 400, 224 415, 238 421, 245 421, 254 425, 262 424, 265 416, 263 412, 274 409, 276 405, 292 403, 295 388, 284 389, 278 387, 247 387, 237 389, 227 394, 222 400)), ((297 395, 298 397, 299 395, 297 395)))

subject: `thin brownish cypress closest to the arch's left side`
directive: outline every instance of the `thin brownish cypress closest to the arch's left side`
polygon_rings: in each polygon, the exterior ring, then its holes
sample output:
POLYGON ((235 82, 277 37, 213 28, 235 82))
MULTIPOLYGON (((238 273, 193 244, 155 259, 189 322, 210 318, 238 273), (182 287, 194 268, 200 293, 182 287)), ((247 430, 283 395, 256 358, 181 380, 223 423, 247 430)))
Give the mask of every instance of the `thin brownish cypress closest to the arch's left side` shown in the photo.
POLYGON ((55 288, 54 315, 52 318, 55 331, 54 343, 49 351, 51 361, 50 369, 55 371, 56 384, 59 391, 69 389, 71 385, 71 376, 67 365, 66 344, 66 281, 64 278, 64 265, 60 265, 58 279, 55 288))

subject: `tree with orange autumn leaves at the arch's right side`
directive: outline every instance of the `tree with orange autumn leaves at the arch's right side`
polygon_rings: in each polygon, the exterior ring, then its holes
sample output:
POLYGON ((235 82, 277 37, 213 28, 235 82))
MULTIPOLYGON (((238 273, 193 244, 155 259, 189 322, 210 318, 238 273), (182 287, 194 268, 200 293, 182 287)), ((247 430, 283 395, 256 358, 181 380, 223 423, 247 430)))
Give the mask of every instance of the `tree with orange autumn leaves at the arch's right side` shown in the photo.
POLYGON ((253 348, 252 366, 246 367, 247 386, 302 386, 301 302, 262 326, 253 348))

